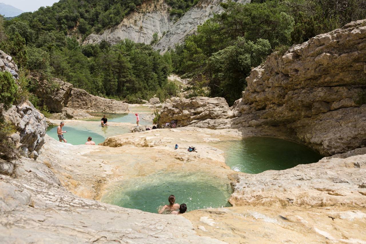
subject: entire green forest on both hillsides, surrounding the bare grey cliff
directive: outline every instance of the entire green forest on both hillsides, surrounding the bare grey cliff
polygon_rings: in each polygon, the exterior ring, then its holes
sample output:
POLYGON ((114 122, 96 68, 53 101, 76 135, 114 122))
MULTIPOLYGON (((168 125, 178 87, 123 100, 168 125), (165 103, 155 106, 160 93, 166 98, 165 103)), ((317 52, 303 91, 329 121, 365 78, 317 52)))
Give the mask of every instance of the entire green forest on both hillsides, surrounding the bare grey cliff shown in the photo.
MULTIPOLYGON (((366 18, 365 0, 229 1, 221 3, 224 12, 198 26, 195 34, 164 55, 129 40, 116 45, 80 44, 80 34, 119 23, 141 3, 61 0, 9 21, 0 19, 0 49, 15 59, 25 77, 57 77, 93 95, 128 102, 154 95, 164 100, 177 89, 167 81, 173 71, 197 81, 192 86, 194 95, 224 97, 232 105, 240 98, 251 68, 271 52, 284 52, 292 44, 366 18)), ((167 3, 171 11, 184 12, 197 0, 167 3)), ((25 82, 30 91, 37 87, 34 82, 25 82)))

